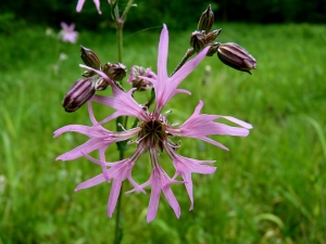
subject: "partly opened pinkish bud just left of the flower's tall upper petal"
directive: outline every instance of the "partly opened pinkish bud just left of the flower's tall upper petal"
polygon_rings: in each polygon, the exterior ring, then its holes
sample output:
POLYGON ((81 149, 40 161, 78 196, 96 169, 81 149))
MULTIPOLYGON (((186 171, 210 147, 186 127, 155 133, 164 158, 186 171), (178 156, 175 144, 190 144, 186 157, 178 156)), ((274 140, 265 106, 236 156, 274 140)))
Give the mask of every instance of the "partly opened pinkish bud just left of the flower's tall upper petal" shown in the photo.
POLYGON ((151 79, 156 79, 158 76, 150 68, 145 68, 141 66, 134 65, 130 68, 130 76, 128 78, 128 84, 134 88, 137 88, 138 91, 145 91, 153 87, 152 82, 140 78, 139 76, 145 76, 151 79))

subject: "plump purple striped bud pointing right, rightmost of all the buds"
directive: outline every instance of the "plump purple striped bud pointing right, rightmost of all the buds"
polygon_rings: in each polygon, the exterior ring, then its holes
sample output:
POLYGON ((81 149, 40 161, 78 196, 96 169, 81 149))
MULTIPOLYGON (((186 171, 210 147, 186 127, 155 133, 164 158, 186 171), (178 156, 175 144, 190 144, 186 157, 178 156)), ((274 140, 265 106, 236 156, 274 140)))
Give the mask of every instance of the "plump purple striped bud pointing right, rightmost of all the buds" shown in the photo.
POLYGON ((253 56, 246 49, 233 42, 220 44, 217 56, 224 64, 241 72, 248 72, 250 75, 250 69, 254 69, 256 66, 253 56))

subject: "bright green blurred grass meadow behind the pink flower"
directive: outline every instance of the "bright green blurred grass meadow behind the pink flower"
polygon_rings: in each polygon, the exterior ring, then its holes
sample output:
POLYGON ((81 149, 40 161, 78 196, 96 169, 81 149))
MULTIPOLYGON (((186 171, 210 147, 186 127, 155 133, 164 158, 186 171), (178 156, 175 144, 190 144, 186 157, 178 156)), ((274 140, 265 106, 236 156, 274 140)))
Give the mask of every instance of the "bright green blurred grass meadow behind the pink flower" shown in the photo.
MULTIPOLYGON (((181 155, 216 159, 217 171, 192 176, 192 211, 185 188, 173 185, 180 219, 162 195, 156 218, 147 223, 150 191, 124 195, 123 243, 326 243, 326 27, 215 27, 223 28, 220 41, 249 50, 258 69, 250 76, 216 56, 206 57, 180 86, 192 95, 179 94, 166 106, 173 110, 170 121, 184 121, 203 100, 203 113, 231 115, 254 128, 247 138, 215 137, 230 151, 183 140, 181 155), (206 65, 212 74, 202 85, 206 65)), ((159 34, 160 28, 125 34, 125 65, 156 69, 159 34)), ((171 72, 188 48, 188 35, 170 34, 171 72)), ((78 44, 91 48, 102 62, 116 62, 113 33, 82 33, 78 44)), ((86 138, 67 133, 53 139, 53 131, 68 124, 89 125, 86 107, 67 114, 61 106, 82 73, 78 44, 61 43, 38 26, 0 34, 0 243, 113 240, 114 218, 106 217, 111 185, 74 192, 100 168, 86 159, 54 160, 86 138), (54 70, 60 52, 67 60, 54 70)), ((96 107, 102 117, 106 111, 96 107)), ((114 145, 108 155, 117 159, 114 145)), ((150 174, 147 158, 142 162, 134 171, 139 183, 150 174)))

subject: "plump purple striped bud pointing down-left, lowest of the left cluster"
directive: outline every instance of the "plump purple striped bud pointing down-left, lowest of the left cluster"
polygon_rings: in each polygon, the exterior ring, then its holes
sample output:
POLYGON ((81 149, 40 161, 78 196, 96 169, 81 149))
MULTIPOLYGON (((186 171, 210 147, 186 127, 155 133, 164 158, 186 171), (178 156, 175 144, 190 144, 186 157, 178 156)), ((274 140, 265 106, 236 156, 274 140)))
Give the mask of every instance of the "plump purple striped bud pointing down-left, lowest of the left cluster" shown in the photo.
POLYGON ((64 107, 65 112, 75 112, 93 94, 93 78, 80 78, 65 94, 62 106, 64 107))

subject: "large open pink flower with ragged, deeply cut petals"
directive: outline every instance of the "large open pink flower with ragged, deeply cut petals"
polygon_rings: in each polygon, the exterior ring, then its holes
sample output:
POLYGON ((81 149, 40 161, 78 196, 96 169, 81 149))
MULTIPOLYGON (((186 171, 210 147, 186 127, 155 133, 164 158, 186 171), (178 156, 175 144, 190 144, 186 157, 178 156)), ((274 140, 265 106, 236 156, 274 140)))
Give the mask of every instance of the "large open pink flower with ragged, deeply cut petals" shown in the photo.
MULTIPOLYGON (((171 184, 185 184, 190 198, 190 210, 193 208, 193 193, 191 174, 213 174, 216 168, 209 166, 208 164, 214 163, 214 160, 197 160, 193 158, 184 157, 177 154, 176 150, 180 146, 173 142, 174 137, 188 137, 199 139, 213 145, 227 150, 224 145, 209 138, 213 134, 228 134, 237 137, 246 137, 249 133, 251 125, 236 119, 229 116, 221 115, 206 115, 200 114, 203 106, 203 102, 200 101, 196 107, 193 114, 179 127, 170 125, 166 117, 161 114, 162 108, 176 93, 187 93, 189 91, 178 89, 178 85, 197 67, 197 65, 205 57, 208 48, 202 50, 196 57, 187 62, 180 69, 178 69, 172 77, 167 76, 166 62, 167 62, 167 49, 168 49, 168 33, 164 25, 161 33, 161 39, 159 43, 159 59, 158 59, 158 76, 150 78, 142 76, 140 78, 150 81, 155 90, 155 107, 152 112, 149 112, 147 107, 139 105, 131 97, 134 89, 128 92, 124 92, 115 87, 112 80, 102 72, 88 67, 103 77, 112 87, 113 97, 100 97, 93 95, 89 101, 89 115, 92 121, 91 127, 86 126, 66 126, 54 132, 54 137, 66 132, 74 131, 88 136, 90 139, 80 146, 64 153, 57 159, 70 160, 79 156, 85 156, 92 162, 99 164, 102 167, 102 174, 99 176, 80 183, 76 190, 90 188, 104 181, 111 181, 112 190, 109 197, 108 215, 112 216, 117 196, 121 191, 121 184, 125 179, 134 185, 134 189, 127 191, 127 193, 134 191, 145 192, 143 188, 151 185, 151 195, 148 206, 147 220, 152 221, 159 208, 161 191, 163 192, 167 203, 174 210, 177 218, 180 216, 179 204, 171 189, 171 184), (93 116, 91 102, 98 102, 105 106, 110 106, 115 112, 108 116, 102 121, 98 123, 93 116), (131 129, 124 129, 121 132, 112 132, 104 129, 101 125, 116 118, 118 116, 133 116, 138 118, 138 126, 131 129), (231 123, 239 125, 240 127, 231 127, 221 123, 216 123, 215 119, 228 119, 231 123), (133 139, 131 138, 136 138, 133 139), (134 155, 129 158, 109 163, 105 160, 104 152, 113 142, 129 140, 129 143, 137 143, 137 149, 134 155), (100 159, 89 157, 87 154, 98 150, 100 159), (173 178, 171 178, 160 165, 159 153, 166 152, 176 169, 173 178), (138 162, 141 154, 149 152, 151 159, 152 172, 150 179, 138 185, 131 178, 131 170, 134 165, 138 162), (183 181, 176 181, 176 177, 180 176, 183 181)), ((85 66, 84 66, 85 67, 85 66)))

